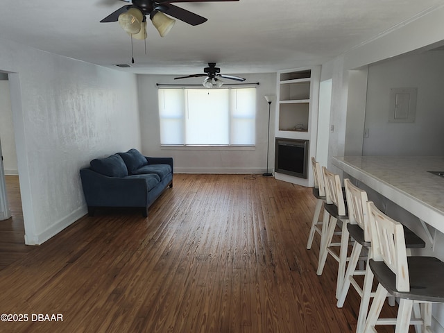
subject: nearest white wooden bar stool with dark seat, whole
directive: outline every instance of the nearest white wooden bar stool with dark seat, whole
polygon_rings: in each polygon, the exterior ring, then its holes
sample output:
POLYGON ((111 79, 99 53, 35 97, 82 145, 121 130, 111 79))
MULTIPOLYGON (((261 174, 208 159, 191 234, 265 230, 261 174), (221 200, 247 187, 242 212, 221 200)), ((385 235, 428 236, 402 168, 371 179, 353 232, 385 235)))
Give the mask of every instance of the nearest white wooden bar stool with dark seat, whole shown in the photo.
POLYGON ((378 286, 364 332, 376 332, 378 324, 393 324, 393 321, 378 320, 388 293, 400 298, 395 333, 408 332, 413 323, 421 323, 422 332, 432 332, 432 302, 444 302, 444 262, 434 257, 407 257, 402 224, 379 211, 371 201, 367 207, 373 247, 368 266, 378 286), (421 305, 421 318, 412 321, 415 304, 421 305))

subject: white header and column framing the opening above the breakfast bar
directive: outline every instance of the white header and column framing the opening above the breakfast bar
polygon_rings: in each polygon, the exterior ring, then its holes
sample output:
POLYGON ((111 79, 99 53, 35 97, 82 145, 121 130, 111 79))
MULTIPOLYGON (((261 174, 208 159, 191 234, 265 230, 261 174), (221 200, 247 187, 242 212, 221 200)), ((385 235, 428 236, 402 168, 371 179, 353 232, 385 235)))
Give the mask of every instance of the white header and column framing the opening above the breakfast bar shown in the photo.
MULTIPOLYGON (((444 6, 412 22, 400 25, 393 31, 387 31, 375 40, 363 43, 323 64, 321 81, 332 78, 330 124, 335 126, 334 132, 330 132, 329 161, 332 156, 342 156, 345 153, 345 121, 346 114, 350 111, 348 110, 348 71, 361 69, 411 51, 432 49, 434 46, 442 45, 443 41, 444 6)), ((348 135, 347 142, 353 145, 354 142, 361 141, 362 134, 359 133, 359 137, 348 135)), ((331 162, 328 165, 332 167, 331 162)), ((332 167, 332 169, 336 168, 332 167)))

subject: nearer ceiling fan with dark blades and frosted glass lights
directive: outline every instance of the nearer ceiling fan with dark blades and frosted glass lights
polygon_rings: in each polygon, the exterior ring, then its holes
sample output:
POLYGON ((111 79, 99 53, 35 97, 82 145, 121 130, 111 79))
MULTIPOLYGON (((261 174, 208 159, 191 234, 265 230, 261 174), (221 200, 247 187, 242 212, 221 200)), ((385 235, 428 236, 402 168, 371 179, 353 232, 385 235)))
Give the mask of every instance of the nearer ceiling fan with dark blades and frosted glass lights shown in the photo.
POLYGON ((101 22, 119 22, 124 31, 136 39, 146 39, 146 17, 164 37, 176 23, 169 16, 180 19, 180 21, 197 26, 203 24, 207 19, 189 10, 174 6, 173 2, 207 2, 207 1, 239 1, 239 0, 121 0, 127 3, 118 10, 101 20, 101 22), (167 15, 165 15, 167 14, 167 15))

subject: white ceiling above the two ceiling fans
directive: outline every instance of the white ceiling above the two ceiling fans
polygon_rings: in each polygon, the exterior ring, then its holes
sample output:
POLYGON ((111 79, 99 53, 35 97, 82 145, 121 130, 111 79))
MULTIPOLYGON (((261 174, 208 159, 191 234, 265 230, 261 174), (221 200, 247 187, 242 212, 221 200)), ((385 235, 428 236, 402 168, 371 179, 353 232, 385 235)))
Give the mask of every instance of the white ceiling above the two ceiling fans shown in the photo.
MULTIPOLYGON (((148 22, 145 43, 133 40, 146 74, 261 73, 318 65, 442 5, 442 0, 240 0, 175 3, 208 21, 179 20, 166 37, 148 22)), ((105 67, 130 64, 131 40, 117 22, 99 23, 119 0, 3 1, 0 37, 105 67)))

